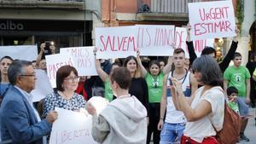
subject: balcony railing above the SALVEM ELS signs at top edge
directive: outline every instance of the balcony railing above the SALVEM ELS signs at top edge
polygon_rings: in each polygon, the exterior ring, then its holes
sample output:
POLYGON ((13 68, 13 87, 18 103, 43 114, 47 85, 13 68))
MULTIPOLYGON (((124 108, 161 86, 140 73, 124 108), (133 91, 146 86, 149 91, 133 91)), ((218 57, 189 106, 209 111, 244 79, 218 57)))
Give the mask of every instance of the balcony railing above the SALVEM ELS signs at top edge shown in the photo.
POLYGON ((187 14, 189 13, 188 3, 205 1, 206 0, 137 0, 137 12, 187 14))

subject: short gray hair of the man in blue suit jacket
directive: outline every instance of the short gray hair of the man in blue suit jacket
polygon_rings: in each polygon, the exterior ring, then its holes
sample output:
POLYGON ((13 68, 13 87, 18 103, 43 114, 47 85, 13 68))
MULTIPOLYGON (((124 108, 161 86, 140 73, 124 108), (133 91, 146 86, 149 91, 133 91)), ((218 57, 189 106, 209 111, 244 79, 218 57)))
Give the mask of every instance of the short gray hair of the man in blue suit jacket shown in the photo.
POLYGON ((17 76, 24 74, 25 67, 30 65, 32 65, 32 62, 27 60, 15 60, 12 62, 8 69, 9 83, 15 85, 17 76))

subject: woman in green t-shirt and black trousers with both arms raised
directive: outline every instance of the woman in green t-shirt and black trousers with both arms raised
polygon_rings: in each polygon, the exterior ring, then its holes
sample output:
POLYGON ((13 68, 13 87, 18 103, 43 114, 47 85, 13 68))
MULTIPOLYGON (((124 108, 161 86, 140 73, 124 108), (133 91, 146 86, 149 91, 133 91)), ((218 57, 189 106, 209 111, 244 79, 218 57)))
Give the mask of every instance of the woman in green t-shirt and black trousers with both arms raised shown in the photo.
POLYGON ((162 89, 164 83, 164 76, 171 71, 172 67, 172 57, 169 57, 168 63, 163 68, 163 71, 160 71, 160 62, 158 60, 150 61, 148 65, 148 70, 142 64, 142 60, 139 57, 139 51, 137 51, 137 62, 140 66, 142 76, 145 78, 148 84, 148 137, 147 144, 149 144, 151 135, 153 135, 154 144, 160 142, 160 130, 157 130, 158 120, 160 118, 160 101, 162 96, 162 89))

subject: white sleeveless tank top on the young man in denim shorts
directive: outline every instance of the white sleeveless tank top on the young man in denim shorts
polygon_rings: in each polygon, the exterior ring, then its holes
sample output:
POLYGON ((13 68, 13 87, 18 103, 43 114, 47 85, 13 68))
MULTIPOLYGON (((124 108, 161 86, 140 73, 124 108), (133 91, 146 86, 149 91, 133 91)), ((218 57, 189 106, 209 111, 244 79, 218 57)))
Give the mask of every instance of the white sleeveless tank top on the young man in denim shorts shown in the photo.
MULTIPOLYGON (((170 78, 172 78, 173 73, 170 72, 167 78, 166 83, 166 100, 167 100, 167 106, 166 106, 166 123, 170 124, 179 124, 179 123, 186 123, 187 119, 185 118, 182 111, 177 111, 173 101, 172 101, 172 93, 170 89, 170 78)), ((182 83, 183 87, 183 93, 186 97, 190 97, 191 95, 191 88, 190 88, 190 72, 187 71, 186 75, 178 79, 180 83, 182 83)))

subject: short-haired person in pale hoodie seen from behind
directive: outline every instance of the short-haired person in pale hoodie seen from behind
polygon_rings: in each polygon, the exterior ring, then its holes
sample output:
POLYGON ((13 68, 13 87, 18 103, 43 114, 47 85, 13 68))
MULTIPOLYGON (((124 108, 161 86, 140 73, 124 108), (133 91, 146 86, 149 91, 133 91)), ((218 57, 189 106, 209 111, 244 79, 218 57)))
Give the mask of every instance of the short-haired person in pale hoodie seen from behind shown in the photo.
POLYGON ((131 74, 117 67, 110 74, 110 85, 117 98, 97 116, 90 102, 87 111, 92 117, 91 135, 103 144, 145 144, 147 110, 134 95, 129 94, 131 74))

